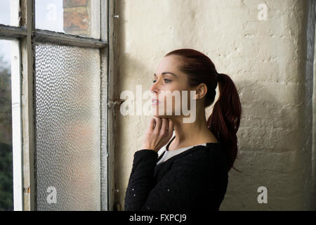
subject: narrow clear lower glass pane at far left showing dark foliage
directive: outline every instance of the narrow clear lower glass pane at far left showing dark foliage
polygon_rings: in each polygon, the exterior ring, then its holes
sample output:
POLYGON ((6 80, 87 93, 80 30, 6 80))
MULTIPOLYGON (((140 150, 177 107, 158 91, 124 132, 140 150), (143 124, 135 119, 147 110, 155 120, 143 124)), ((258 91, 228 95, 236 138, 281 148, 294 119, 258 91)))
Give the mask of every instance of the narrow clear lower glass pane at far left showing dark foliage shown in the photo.
POLYGON ((11 41, 0 39, 0 211, 13 210, 11 41))

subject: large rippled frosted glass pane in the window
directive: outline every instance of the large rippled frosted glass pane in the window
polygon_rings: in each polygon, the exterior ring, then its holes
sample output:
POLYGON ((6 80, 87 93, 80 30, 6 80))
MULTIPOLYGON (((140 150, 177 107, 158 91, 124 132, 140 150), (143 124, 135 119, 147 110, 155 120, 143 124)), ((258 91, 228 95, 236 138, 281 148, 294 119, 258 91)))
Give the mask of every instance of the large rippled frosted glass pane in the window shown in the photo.
POLYGON ((100 210, 98 49, 36 44, 37 210, 100 210))

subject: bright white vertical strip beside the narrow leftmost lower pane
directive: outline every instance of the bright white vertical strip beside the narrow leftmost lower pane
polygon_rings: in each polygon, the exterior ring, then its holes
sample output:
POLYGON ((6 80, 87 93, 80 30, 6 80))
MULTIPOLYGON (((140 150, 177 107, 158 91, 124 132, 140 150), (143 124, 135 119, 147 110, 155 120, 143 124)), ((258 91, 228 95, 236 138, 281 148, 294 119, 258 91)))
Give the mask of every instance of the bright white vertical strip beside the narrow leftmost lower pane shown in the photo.
POLYGON ((13 205, 22 211, 22 122, 21 122, 20 46, 11 41, 12 147, 13 147, 13 205))

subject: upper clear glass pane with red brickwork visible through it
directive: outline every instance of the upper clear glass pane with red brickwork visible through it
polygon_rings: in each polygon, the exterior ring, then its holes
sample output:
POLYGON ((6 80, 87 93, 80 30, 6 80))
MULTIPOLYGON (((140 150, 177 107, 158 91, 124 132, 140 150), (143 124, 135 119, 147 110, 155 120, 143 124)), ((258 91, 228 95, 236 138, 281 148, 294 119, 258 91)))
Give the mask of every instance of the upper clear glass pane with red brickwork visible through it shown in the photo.
POLYGON ((35 27, 100 39, 100 0, 37 0, 35 27))

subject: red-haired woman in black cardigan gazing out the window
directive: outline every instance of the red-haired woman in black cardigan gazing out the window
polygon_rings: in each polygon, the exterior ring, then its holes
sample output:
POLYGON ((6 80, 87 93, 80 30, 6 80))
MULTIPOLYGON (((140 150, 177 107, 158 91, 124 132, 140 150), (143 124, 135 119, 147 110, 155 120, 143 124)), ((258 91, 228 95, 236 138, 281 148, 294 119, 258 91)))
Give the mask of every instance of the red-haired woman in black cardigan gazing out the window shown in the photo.
POLYGON ((242 108, 235 84, 218 74, 203 53, 178 49, 159 63, 151 91, 155 117, 134 154, 124 210, 219 210, 237 156, 242 108), (220 96, 206 121, 205 108, 213 103, 217 84, 220 96), (166 98, 160 94, 166 91, 194 94, 193 122, 183 122, 190 116, 183 111, 176 115, 175 98, 172 115, 166 115, 166 98))

